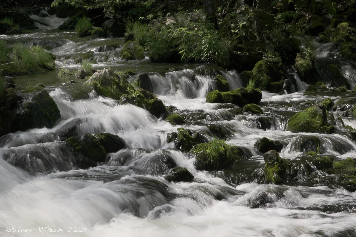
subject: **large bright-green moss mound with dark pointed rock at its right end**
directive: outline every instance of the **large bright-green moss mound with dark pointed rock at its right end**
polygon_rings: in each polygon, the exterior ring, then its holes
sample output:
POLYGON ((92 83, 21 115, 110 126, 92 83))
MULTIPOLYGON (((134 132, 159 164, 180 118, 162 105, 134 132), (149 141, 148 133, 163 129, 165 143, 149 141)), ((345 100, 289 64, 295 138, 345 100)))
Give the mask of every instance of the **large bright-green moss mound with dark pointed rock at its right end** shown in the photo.
MULTIPOLYGON (((333 115, 331 114, 333 117, 333 115)), ((333 133, 329 114, 324 107, 316 106, 294 114, 288 120, 287 129, 293 133, 333 133)))

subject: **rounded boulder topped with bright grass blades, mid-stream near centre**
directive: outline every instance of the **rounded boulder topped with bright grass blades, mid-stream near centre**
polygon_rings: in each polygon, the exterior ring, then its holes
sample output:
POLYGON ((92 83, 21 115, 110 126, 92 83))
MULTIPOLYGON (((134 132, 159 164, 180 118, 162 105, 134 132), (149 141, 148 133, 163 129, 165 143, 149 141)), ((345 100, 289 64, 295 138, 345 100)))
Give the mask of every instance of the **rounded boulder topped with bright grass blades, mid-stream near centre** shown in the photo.
POLYGON ((235 161, 245 157, 241 148, 226 144, 224 140, 195 145, 191 152, 195 154, 197 169, 208 171, 231 169, 235 161))

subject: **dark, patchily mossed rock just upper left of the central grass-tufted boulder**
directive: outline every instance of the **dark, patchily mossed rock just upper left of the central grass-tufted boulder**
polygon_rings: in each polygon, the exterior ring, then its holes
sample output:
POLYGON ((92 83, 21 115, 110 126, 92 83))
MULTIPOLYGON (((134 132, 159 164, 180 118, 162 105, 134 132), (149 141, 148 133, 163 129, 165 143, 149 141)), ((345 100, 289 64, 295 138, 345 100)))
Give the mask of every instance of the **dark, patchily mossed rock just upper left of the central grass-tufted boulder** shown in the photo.
POLYGON ((178 128, 177 130, 167 134, 167 142, 173 142, 180 151, 189 151, 194 145, 205 141, 202 135, 190 129, 178 128))

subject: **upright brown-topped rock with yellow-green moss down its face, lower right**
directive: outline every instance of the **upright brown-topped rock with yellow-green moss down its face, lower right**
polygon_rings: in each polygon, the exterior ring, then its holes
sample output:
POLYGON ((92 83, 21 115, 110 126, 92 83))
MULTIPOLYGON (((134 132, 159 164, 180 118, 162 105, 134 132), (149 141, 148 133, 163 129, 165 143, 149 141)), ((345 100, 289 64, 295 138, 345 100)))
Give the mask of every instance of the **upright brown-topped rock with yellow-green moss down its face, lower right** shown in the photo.
POLYGON ((267 183, 282 184, 292 181, 297 175, 292 163, 281 158, 277 151, 271 150, 263 154, 265 160, 265 177, 267 183))

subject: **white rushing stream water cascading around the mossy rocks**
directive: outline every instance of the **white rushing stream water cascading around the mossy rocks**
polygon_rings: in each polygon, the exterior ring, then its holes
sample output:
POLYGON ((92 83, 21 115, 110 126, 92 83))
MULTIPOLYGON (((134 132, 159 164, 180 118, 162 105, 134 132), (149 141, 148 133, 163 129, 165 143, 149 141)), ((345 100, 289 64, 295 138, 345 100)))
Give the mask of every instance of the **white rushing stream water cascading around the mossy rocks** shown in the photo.
MULTIPOLYGON (((280 154, 288 159, 305 152, 301 144, 309 137, 319 139, 322 154, 342 159, 356 156, 356 143, 347 136, 287 131, 288 119, 307 108, 306 101, 326 97, 304 95, 308 85, 297 74, 295 93, 264 91, 259 103, 264 114, 247 115, 232 104, 205 102, 206 94, 216 87, 210 69, 220 70, 230 89, 242 85, 236 71, 201 64, 122 61, 122 39, 84 40, 73 32, 0 38, 51 47, 57 56, 55 71, 13 80, 18 87, 26 86, 27 81, 43 82, 61 112, 54 128, 0 138, 0 236, 356 236, 356 192, 326 186, 257 184, 253 179, 252 173, 262 172, 264 167, 262 154, 253 146, 262 137, 281 141, 280 154), (250 159, 232 171, 197 171, 194 156, 166 142, 167 133, 182 126, 157 119, 134 105, 98 97, 74 76, 57 77, 62 67, 77 70, 79 65, 70 58, 88 50, 94 51, 96 69, 151 72, 152 92, 166 106, 176 107, 186 120, 184 128, 213 140, 206 125, 220 126, 228 136, 227 143, 243 148, 250 159), (67 83, 70 80, 76 83, 67 83), (262 124, 261 118, 268 123, 262 124), (58 132, 77 121, 77 135, 117 134, 127 148, 110 153, 97 167, 75 169, 58 132), (162 157, 171 157, 177 166, 187 168, 194 182, 167 182, 163 175, 169 168, 162 157), (41 227, 63 232, 45 232, 41 227), (15 232, 10 232, 13 228, 15 232), (21 232, 25 228, 32 231, 21 232)), ((329 97, 341 99, 339 95, 329 97)), ((343 119, 345 125, 356 127, 355 120, 343 119)))

